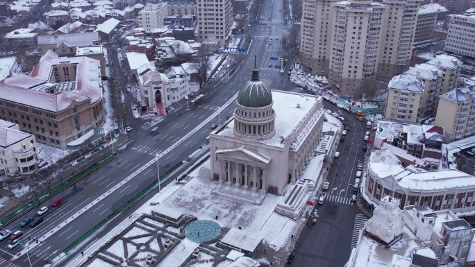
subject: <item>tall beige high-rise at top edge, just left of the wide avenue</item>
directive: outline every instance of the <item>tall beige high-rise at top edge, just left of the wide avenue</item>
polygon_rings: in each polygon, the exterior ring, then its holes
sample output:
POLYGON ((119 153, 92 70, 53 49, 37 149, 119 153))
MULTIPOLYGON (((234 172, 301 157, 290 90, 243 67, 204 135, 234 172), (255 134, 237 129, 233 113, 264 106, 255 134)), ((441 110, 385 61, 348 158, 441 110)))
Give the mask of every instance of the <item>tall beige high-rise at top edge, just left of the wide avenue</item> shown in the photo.
POLYGON ((230 0, 198 0, 198 37, 200 42, 224 46, 231 34, 233 14, 230 0))

